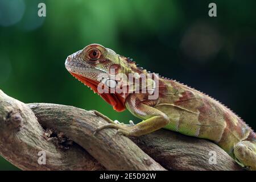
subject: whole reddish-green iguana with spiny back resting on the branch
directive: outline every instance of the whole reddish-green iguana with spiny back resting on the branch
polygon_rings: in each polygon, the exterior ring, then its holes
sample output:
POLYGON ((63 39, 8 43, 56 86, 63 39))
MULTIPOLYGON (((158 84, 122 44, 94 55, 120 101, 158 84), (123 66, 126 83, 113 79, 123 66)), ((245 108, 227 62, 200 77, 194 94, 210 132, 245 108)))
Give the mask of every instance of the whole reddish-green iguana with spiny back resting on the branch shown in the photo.
MULTIPOLYGON (((112 127, 127 136, 140 136, 164 128, 209 139, 241 166, 256 170, 254 131, 232 110, 212 97, 175 80, 151 74, 138 67, 129 57, 120 56, 100 44, 90 44, 69 55, 65 68, 98 93, 113 109, 128 109, 143 120, 137 125, 128 126, 105 117, 109 123, 97 131, 112 127), (116 78, 117 75, 123 76, 116 78), (127 81, 125 77, 130 75, 134 75, 134 78, 127 81), (126 92, 120 92, 117 88, 126 88, 126 92), (149 99, 153 95, 158 97, 149 99)), ((96 114, 104 117, 98 112, 96 114)))

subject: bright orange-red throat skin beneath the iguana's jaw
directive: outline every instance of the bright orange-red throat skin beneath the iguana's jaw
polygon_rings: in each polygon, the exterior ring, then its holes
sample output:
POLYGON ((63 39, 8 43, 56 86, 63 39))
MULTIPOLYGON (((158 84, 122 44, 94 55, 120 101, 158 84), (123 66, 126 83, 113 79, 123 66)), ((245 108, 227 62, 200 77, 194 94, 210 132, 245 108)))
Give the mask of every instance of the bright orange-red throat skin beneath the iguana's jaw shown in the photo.
POLYGON ((90 78, 86 78, 84 76, 78 75, 76 73, 70 72, 71 75, 76 77, 79 81, 81 81, 83 84, 89 86, 94 93, 97 93, 99 96, 101 96, 106 102, 108 102, 110 105, 113 106, 113 109, 116 111, 123 111, 125 110, 125 99, 127 97, 127 94, 117 94, 117 93, 98 93, 98 84, 99 81, 94 81, 90 78))

